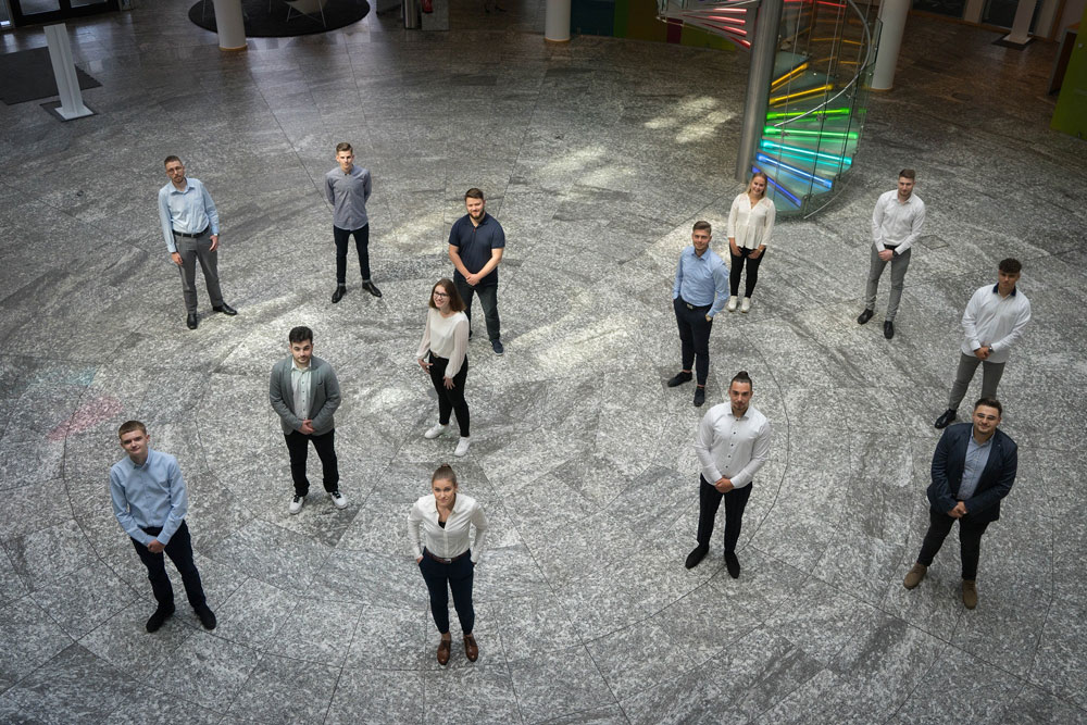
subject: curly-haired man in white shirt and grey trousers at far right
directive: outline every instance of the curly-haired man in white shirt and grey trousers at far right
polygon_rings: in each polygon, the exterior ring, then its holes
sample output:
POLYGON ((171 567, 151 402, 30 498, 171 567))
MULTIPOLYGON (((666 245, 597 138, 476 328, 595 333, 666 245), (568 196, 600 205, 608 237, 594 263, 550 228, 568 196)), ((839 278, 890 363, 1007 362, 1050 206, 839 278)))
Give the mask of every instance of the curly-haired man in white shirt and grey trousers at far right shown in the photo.
POLYGON ((1011 348, 1030 322, 1030 300, 1015 289, 1023 265, 1019 260, 1001 260, 997 284, 979 287, 962 313, 964 339, 959 351, 959 370, 955 372, 948 409, 936 420, 937 428, 954 423, 959 403, 966 388, 982 365, 982 397, 996 398, 997 386, 1004 374, 1004 363, 1011 348))

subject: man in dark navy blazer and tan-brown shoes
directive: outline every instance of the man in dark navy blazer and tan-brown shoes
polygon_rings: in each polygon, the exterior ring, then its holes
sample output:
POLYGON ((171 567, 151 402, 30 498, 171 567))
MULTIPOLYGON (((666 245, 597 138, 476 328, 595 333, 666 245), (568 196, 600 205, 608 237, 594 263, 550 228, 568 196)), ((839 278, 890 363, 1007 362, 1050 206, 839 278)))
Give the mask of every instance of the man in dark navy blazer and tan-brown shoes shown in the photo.
POLYGON ((974 403, 973 423, 952 425, 944 432, 933 453, 933 483, 928 486, 928 533, 917 563, 905 580, 913 589, 925 578, 944 539, 959 522, 962 547, 962 603, 977 607, 977 560, 985 528, 1000 518, 1000 499, 1015 483, 1019 453, 1015 441, 998 430, 1003 409, 996 398, 974 403))

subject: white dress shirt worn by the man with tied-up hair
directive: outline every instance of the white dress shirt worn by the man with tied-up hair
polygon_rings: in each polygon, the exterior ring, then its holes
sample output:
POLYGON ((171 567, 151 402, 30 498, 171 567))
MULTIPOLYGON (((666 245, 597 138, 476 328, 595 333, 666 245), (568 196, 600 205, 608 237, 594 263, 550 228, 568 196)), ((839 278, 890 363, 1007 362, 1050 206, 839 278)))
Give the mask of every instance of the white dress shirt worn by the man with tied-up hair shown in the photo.
POLYGON ((714 405, 695 434, 695 454, 708 484, 728 478, 735 488, 751 483, 766 462, 774 434, 766 416, 750 405, 744 417, 729 403, 714 405))

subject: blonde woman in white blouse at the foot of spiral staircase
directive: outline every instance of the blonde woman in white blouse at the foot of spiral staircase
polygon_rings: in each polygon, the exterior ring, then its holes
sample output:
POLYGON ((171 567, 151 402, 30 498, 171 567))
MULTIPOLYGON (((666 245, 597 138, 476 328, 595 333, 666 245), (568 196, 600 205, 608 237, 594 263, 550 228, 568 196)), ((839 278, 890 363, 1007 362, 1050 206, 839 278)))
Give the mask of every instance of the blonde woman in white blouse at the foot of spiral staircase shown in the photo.
POLYGON ((748 190, 733 200, 728 211, 728 250, 732 252, 733 264, 728 273, 729 298, 725 309, 736 311, 739 301, 740 276, 744 274, 744 261, 747 260, 748 276, 744 289, 744 303, 740 312, 751 309, 751 293, 759 282, 759 265, 770 237, 774 234, 774 217, 777 210, 774 202, 766 198, 766 175, 755 173, 748 184, 748 190))

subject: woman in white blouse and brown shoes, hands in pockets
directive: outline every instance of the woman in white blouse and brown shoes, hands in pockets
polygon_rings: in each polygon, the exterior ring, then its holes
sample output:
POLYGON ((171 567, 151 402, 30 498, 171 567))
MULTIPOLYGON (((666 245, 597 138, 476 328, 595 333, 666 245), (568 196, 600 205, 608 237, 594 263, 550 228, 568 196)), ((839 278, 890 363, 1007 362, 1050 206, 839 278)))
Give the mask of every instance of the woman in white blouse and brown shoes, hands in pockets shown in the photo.
POLYGON ((475 662, 479 646, 472 636, 475 625, 472 576, 483 551, 487 517, 474 498, 457 489, 457 474, 450 466, 438 466, 430 477, 430 489, 433 492, 415 501, 408 514, 408 539, 430 592, 430 615, 441 633, 438 664, 449 662, 449 589, 453 591, 453 608, 464 634, 464 655, 475 662), (475 540, 470 543, 473 527, 475 540))

